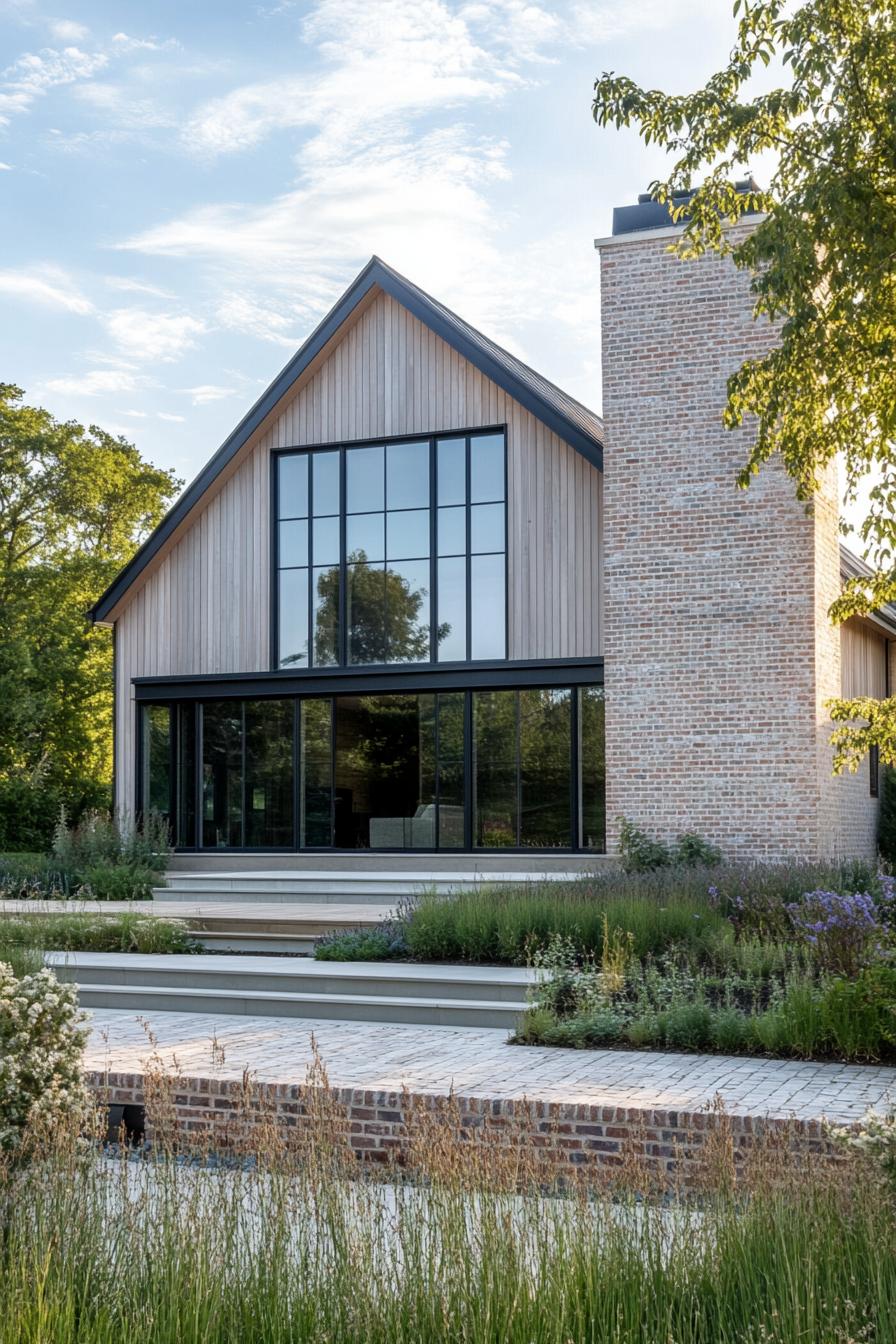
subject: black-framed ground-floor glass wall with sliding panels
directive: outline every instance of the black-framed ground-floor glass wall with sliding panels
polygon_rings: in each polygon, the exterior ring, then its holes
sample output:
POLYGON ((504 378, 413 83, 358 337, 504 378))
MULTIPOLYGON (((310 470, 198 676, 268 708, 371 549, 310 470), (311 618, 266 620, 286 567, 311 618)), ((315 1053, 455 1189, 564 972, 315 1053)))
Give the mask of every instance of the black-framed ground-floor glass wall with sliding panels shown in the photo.
POLYGON ((603 691, 148 704, 140 805, 181 848, 602 851, 603 691))

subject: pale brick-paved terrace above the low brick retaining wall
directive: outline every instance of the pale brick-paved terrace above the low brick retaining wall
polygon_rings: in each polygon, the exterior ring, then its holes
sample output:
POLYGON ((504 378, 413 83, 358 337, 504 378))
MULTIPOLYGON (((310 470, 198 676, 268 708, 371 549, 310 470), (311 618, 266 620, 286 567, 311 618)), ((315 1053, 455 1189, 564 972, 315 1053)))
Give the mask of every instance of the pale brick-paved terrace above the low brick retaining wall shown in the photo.
MULTIPOLYGON (((523 1099, 643 1111, 697 1111, 721 1099, 731 1116, 837 1124, 870 1106, 896 1105, 896 1068, 877 1064, 509 1046, 484 1027, 230 1017, 149 1012, 142 1020, 161 1059, 181 1077, 297 1085, 312 1063, 312 1038, 337 1089, 523 1099), (214 1047, 212 1047, 214 1042, 214 1047)), ((153 1052, 142 1020, 97 1009, 87 1068, 142 1074, 153 1052)))

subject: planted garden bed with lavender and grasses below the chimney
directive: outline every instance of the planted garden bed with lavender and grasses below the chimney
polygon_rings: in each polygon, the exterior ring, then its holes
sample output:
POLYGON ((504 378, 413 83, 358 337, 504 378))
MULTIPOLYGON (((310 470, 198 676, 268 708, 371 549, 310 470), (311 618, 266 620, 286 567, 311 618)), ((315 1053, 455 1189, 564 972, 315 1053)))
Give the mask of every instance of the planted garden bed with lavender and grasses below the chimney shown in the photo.
POLYGON ((896 1060, 893 879, 861 863, 424 895, 316 956, 535 965, 527 1044, 896 1060))

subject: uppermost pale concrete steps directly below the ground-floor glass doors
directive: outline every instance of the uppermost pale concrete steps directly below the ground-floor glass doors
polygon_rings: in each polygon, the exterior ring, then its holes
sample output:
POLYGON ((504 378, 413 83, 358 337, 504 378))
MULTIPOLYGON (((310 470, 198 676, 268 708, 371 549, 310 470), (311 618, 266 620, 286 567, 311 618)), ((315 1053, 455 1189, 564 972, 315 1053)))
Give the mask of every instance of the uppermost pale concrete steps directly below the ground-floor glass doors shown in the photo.
POLYGON ((489 886, 528 886, 533 882, 576 882, 575 870, 434 872, 430 870, 333 872, 322 871, 263 871, 263 872, 177 872, 168 876, 167 886, 157 887, 153 898, 159 902, 212 900, 212 902, 314 902, 321 905, 373 903, 395 907, 400 900, 433 891, 450 895, 476 891, 489 886))

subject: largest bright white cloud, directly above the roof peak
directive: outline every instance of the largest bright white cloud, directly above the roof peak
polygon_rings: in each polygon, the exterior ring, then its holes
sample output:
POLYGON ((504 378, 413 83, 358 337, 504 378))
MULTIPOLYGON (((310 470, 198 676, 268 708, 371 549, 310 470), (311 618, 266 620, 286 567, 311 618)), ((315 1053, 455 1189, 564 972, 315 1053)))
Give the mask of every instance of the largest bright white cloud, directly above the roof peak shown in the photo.
POLYGON ((216 325, 283 345, 371 253, 510 347, 540 320, 591 340, 586 245, 579 255, 559 231, 549 249, 508 255, 512 222, 494 192, 509 179, 509 145, 463 120, 524 90, 563 51, 568 13, 524 0, 320 0, 302 24, 312 74, 212 99, 183 134, 214 157, 292 129, 296 183, 261 204, 196 207, 120 246, 204 263, 223 289, 216 325), (580 297, 559 308, 557 293, 580 297))

